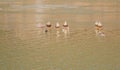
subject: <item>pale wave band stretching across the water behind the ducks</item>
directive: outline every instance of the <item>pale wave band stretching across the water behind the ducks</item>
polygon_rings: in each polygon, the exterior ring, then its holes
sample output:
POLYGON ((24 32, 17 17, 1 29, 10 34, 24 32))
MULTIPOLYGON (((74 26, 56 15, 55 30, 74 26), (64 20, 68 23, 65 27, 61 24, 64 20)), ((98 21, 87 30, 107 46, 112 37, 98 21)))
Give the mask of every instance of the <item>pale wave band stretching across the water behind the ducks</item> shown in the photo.
MULTIPOLYGON (((107 7, 107 6, 106 6, 107 7)), ((115 9, 115 8, 111 8, 107 7, 106 9, 99 8, 99 7, 94 7, 94 6, 90 6, 90 7, 86 7, 86 6, 77 6, 77 5, 65 5, 65 4, 59 4, 59 5, 51 5, 51 4, 42 4, 42 5, 10 5, 9 7, 6 7, 7 11, 11 11, 11 12, 21 12, 24 10, 36 10, 36 12, 41 13, 43 12, 43 10, 63 10, 63 11, 67 11, 70 12, 69 10, 73 10, 72 12, 83 12, 83 13, 119 13, 120 10, 119 9, 115 9), (96 9, 98 8, 98 9, 96 9), (116 11, 117 10, 117 11, 116 11)), ((2 8, 0 8, 0 11, 4 11, 2 8)))

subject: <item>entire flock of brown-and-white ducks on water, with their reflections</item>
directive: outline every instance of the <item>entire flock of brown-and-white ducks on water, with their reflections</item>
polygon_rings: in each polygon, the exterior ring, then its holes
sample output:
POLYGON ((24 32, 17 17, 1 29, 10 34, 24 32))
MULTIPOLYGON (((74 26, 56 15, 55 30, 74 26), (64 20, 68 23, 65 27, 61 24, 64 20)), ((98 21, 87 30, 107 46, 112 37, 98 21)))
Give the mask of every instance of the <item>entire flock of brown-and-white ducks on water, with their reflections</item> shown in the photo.
MULTIPOLYGON (((46 24, 39 23, 37 25, 37 27, 42 28, 44 30, 43 32, 48 33, 51 31, 52 24, 50 22, 48 22, 46 24)), ((54 27, 56 30, 56 35, 57 35, 57 37, 59 37, 60 36, 60 27, 61 27, 59 22, 57 22, 54 27)), ((67 21, 65 21, 62 25, 62 32, 64 33, 65 36, 67 36, 70 33, 69 31, 70 31, 69 25, 68 25, 67 21)), ((100 21, 95 22, 95 33, 96 33, 96 36, 105 37, 105 34, 103 32, 103 25, 100 21)))

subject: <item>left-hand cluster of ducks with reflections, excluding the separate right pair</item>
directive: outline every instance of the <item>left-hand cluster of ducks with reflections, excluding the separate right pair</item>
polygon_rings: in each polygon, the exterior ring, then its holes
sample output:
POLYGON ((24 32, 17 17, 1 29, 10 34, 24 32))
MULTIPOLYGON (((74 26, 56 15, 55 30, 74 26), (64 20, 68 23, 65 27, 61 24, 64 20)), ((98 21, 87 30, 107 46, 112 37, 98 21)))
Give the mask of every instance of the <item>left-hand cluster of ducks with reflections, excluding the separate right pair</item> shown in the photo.
MULTIPOLYGON (((50 22, 47 22, 46 24, 41 24, 41 23, 37 24, 37 27, 42 28, 43 32, 45 32, 45 33, 51 32, 52 26, 53 25, 50 22)), ((57 37, 59 37, 60 36, 60 29, 61 29, 60 23, 57 22, 55 24, 54 28, 56 30, 57 37)), ((69 25, 68 25, 67 21, 65 21, 62 25, 62 32, 64 33, 65 36, 67 36, 69 34, 69 25)))

